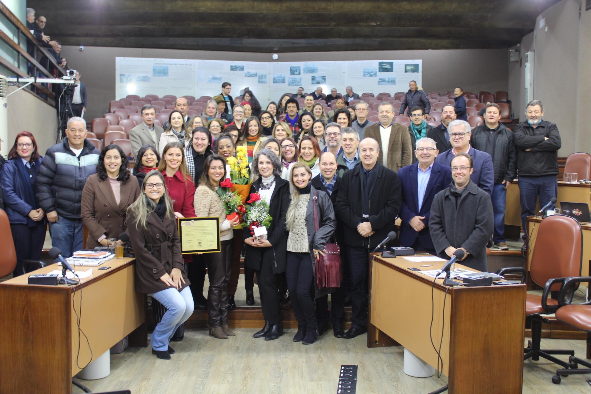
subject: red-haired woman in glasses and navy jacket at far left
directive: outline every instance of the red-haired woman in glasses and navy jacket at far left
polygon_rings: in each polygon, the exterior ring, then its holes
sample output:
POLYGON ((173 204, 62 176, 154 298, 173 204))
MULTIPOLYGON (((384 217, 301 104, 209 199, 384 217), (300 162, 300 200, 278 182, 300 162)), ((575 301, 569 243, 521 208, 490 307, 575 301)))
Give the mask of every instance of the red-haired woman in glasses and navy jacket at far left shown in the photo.
POLYGON ((45 242, 45 212, 37 200, 37 171, 41 157, 35 137, 28 131, 18 133, 2 166, 0 181, 4 191, 4 209, 8 215, 14 245, 18 245, 14 276, 22 275, 24 260, 40 260, 45 242))

